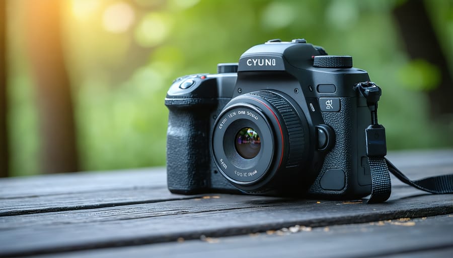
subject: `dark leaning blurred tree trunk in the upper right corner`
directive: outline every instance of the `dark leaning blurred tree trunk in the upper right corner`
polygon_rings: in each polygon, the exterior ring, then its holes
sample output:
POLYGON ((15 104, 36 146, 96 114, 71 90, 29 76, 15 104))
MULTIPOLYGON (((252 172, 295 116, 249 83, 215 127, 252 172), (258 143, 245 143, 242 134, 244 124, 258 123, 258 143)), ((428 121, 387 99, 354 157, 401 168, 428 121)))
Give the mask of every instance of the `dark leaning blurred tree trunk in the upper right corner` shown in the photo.
POLYGON ((453 78, 422 0, 409 0, 393 11, 400 34, 412 59, 424 59, 441 74, 437 87, 428 91, 431 114, 452 114, 453 78))

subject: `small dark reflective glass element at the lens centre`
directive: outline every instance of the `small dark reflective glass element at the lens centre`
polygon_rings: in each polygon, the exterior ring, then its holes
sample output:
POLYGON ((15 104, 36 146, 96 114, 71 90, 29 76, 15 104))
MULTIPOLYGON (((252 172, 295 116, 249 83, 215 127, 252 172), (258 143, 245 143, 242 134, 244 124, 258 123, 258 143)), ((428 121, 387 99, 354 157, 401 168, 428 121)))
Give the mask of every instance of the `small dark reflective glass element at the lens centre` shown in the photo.
POLYGON ((253 128, 244 127, 235 138, 236 151, 244 159, 255 158, 261 149, 261 140, 253 128))

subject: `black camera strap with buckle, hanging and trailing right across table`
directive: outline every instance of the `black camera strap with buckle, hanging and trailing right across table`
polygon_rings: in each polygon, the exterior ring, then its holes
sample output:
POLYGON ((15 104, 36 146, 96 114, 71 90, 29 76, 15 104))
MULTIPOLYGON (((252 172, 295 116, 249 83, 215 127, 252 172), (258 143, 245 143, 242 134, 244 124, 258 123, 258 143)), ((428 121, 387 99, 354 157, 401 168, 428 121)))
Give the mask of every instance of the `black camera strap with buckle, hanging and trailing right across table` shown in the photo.
POLYGON ((380 203, 389 199, 392 192, 390 173, 392 172, 403 183, 433 194, 453 193, 453 174, 428 177, 416 181, 407 178, 388 159, 386 131, 378 123, 378 101, 381 88, 373 82, 361 82, 354 86, 366 98, 371 111, 371 125, 365 129, 366 155, 368 156, 371 174, 371 195, 367 203, 380 203))

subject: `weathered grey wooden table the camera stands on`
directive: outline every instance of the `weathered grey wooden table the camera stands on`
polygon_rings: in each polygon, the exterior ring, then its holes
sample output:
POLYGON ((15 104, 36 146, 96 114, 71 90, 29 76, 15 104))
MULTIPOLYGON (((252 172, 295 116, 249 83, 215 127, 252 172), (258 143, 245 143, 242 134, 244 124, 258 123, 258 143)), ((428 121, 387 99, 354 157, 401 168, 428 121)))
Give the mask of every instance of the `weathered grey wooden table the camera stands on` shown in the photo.
MULTIPOLYGON (((453 150, 388 155, 411 179, 453 173, 453 150)), ((0 256, 453 257, 453 195, 392 178, 366 204, 167 190, 165 168, 0 180, 0 256)))

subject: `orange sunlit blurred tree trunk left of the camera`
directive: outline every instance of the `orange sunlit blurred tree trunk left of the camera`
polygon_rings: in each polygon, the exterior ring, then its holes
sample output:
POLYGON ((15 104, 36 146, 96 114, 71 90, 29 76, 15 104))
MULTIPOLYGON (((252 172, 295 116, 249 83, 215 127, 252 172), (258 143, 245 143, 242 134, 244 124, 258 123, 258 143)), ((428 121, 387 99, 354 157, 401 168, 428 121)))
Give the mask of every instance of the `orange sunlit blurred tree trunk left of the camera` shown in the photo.
POLYGON ((61 44, 60 0, 28 1, 26 41, 38 98, 41 172, 78 171, 69 78, 61 44))

